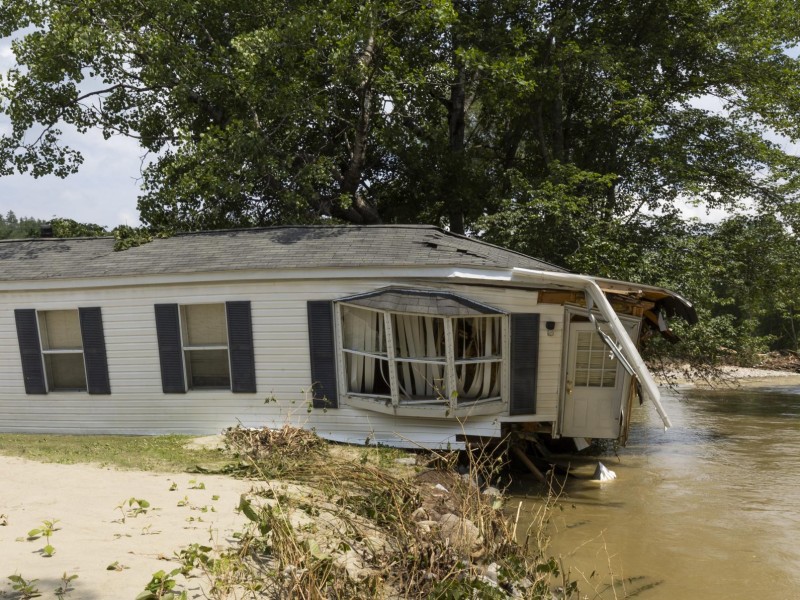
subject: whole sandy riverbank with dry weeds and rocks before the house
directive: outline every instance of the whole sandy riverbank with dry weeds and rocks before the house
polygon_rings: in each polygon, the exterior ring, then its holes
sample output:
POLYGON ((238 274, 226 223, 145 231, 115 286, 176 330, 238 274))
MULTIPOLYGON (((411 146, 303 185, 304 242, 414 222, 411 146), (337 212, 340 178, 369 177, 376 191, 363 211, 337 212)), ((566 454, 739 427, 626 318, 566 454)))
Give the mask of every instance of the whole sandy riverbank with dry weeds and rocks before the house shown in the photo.
MULTIPOLYGON (((288 427, 224 441, 216 474, 0 456, 0 597, 538 598, 560 581, 535 543, 544 513, 520 545, 499 491, 477 485, 494 457, 460 473, 455 454, 337 446, 288 427)), ((570 593, 567 582, 553 597, 570 593)))

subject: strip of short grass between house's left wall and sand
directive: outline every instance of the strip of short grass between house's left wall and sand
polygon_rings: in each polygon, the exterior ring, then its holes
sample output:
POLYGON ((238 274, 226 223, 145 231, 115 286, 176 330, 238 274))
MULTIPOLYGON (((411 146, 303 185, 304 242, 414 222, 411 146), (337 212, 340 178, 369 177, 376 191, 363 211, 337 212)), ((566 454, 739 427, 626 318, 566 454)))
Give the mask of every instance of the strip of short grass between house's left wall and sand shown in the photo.
POLYGON ((192 436, 0 434, 0 454, 60 464, 93 463, 118 469, 191 471, 219 469, 230 457, 219 450, 187 448, 192 436))

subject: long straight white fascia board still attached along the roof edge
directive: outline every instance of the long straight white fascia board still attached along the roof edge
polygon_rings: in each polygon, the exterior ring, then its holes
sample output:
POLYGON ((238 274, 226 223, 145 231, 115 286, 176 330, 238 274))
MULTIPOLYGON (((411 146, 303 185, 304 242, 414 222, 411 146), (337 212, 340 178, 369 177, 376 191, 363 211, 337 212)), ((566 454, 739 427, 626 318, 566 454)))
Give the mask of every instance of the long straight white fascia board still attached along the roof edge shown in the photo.
POLYGON ((452 279, 510 281, 508 269, 464 269, 462 267, 346 267, 319 269, 264 269, 253 271, 209 271, 159 273, 154 275, 94 276, 70 279, 26 279, 0 282, 0 293, 39 290, 75 290, 131 286, 299 281, 335 279, 452 279))

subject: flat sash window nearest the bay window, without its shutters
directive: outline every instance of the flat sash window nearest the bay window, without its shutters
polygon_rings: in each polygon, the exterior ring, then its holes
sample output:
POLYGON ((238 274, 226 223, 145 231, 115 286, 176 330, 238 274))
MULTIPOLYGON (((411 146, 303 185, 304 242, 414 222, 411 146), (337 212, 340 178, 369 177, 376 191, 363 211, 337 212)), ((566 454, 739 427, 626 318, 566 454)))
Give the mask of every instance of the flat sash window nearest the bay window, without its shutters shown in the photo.
POLYGON ((225 305, 184 304, 180 315, 188 388, 230 388, 225 305))

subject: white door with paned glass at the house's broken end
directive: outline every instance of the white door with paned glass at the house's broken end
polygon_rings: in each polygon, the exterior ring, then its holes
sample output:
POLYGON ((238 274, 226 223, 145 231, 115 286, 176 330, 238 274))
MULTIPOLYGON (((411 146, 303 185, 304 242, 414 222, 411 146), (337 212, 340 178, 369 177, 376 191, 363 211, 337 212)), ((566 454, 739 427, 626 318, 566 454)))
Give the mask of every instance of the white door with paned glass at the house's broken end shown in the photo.
MULTIPOLYGON (((632 338, 638 333, 638 322, 623 325, 632 338)), ((601 329, 610 333, 608 325, 601 329)), ((571 323, 568 344, 561 435, 617 438, 630 377, 592 323, 571 323)))

